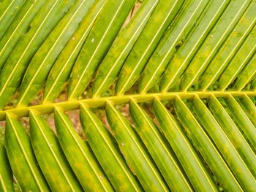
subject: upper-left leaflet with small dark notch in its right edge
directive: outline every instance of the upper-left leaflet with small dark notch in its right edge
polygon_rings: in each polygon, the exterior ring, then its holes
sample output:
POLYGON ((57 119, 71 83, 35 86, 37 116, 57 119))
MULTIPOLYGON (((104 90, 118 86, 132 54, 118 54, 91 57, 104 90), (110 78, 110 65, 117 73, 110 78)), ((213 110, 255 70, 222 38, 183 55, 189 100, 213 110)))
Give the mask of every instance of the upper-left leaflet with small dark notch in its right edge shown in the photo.
POLYGON ((20 12, 18 12, 15 20, 13 20, 12 24, 4 34, 4 37, 0 41, 0 71, 20 37, 22 37, 23 34, 26 34, 31 28, 31 26, 29 26, 31 20, 34 19, 34 16, 43 4, 45 4, 45 1, 46 0, 26 1, 20 9, 20 12))

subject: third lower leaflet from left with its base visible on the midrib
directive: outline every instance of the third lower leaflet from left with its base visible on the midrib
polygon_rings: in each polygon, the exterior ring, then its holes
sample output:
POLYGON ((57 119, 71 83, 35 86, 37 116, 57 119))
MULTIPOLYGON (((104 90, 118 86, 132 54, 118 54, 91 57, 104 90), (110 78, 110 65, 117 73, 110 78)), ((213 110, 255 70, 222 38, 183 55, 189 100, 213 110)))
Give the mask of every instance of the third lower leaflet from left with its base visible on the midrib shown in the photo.
POLYGON ((113 191, 91 148, 75 132, 69 117, 57 108, 54 115, 62 150, 84 191, 113 191))

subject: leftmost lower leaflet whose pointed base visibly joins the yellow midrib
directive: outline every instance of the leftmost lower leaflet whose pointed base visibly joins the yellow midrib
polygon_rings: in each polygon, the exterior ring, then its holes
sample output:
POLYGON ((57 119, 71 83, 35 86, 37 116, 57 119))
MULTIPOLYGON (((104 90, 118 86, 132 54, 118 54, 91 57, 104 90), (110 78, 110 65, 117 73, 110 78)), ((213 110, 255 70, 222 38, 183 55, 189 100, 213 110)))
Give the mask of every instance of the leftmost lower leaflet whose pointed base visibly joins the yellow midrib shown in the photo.
POLYGON ((34 157, 29 135, 23 125, 11 115, 7 115, 5 142, 12 172, 22 190, 50 191, 34 157))

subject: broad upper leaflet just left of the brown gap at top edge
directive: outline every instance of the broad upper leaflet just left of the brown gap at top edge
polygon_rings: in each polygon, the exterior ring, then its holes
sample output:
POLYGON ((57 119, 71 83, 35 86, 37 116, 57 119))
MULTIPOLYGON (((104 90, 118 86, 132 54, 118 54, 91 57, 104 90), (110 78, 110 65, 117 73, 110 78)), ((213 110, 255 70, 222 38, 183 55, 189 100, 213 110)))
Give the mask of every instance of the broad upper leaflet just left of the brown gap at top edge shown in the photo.
POLYGON ((68 86, 69 100, 83 93, 134 4, 135 0, 105 2, 72 69, 68 86))

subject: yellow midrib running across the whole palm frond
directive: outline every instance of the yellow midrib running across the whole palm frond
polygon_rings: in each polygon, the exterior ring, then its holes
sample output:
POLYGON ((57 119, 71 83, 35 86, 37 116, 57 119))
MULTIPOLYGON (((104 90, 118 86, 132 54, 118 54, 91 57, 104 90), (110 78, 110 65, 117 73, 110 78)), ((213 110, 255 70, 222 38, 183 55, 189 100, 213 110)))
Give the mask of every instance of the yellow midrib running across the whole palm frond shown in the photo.
POLYGON ((181 99, 191 99, 195 96, 199 98, 207 98, 208 96, 225 97, 231 96, 256 96, 256 90, 253 91, 181 91, 181 92, 167 92, 167 93, 145 93, 145 94, 130 94, 122 96, 107 96, 93 99, 81 99, 63 101, 58 103, 45 103, 29 107, 16 107, 10 110, 0 111, 0 121, 5 120, 7 112, 11 112, 18 118, 29 117, 29 110, 37 111, 39 114, 48 114, 54 111, 55 107, 61 107, 65 111, 72 111, 80 109, 80 104, 86 104, 89 107, 104 107, 106 101, 111 101, 112 104, 127 104, 131 99, 140 102, 152 102, 157 96, 161 101, 171 100, 176 96, 181 99))

